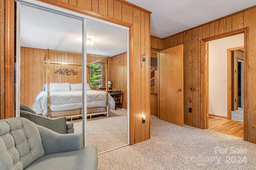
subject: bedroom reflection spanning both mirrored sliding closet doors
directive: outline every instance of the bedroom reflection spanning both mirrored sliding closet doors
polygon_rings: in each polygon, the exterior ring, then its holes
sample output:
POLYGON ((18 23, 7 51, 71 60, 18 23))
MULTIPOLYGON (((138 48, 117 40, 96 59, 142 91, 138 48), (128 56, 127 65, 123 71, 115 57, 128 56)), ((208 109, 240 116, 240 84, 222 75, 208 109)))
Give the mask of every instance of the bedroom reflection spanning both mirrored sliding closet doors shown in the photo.
POLYGON ((48 128, 57 133, 83 134, 87 106, 87 146, 96 145, 100 153, 128 145, 127 33, 106 23, 21 5, 20 117, 36 115, 42 126, 47 123, 40 117, 47 117, 52 121, 48 128))

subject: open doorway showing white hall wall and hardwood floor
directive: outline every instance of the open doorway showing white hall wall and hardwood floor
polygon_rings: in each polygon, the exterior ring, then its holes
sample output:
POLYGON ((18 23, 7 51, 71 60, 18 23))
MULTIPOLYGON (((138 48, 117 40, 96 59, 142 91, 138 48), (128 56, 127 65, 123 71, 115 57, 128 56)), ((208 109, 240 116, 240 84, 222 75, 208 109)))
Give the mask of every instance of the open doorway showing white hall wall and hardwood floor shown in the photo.
MULTIPOLYGON (((246 139, 244 33, 205 41, 205 128, 246 139), (239 103, 239 104, 238 104, 239 103)), ((204 40, 203 40, 204 41, 204 40)))

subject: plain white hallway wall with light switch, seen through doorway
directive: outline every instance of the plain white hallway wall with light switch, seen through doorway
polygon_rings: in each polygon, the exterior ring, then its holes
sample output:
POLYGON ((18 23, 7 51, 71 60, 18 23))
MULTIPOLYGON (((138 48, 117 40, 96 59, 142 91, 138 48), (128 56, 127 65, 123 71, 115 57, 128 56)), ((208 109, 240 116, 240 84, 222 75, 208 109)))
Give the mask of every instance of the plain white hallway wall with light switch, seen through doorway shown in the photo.
POLYGON ((227 117, 227 49, 244 45, 244 34, 209 41, 209 114, 227 117))

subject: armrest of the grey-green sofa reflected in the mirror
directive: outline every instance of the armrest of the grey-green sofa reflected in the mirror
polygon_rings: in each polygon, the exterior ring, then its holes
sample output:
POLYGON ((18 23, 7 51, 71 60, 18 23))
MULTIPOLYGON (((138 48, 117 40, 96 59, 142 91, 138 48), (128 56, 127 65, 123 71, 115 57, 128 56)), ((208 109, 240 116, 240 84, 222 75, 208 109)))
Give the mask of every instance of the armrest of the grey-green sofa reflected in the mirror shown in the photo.
POLYGON ((30 113, 28 111, 20 111, 20 117, 24 117, 37 125, 51 129, 54 132, 66 134, 66 117, 49 118, 30 113))

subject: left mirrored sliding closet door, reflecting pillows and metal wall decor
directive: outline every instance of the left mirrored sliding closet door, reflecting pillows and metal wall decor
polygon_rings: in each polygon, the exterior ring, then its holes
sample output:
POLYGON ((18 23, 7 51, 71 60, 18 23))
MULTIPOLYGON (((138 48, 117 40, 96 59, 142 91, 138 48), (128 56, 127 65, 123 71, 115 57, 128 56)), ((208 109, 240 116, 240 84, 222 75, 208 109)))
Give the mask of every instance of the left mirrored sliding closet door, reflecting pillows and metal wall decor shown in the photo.
MULTIPOLYGON (((21 4, 20 116, 26 117, 22 110, 27 106, 49 118, 66 116, 70 121, 82 116, 82 23, 80 18, 21 4)), ((55 122, 49 127, 56 132, 72 133, 63 122, 55 122)), ((82 132, 82 125, 77 128, 82 132)))

